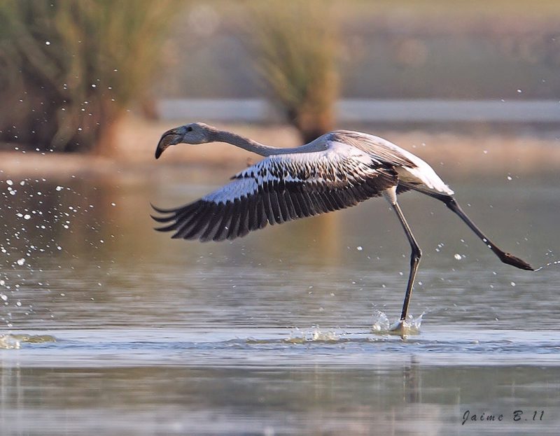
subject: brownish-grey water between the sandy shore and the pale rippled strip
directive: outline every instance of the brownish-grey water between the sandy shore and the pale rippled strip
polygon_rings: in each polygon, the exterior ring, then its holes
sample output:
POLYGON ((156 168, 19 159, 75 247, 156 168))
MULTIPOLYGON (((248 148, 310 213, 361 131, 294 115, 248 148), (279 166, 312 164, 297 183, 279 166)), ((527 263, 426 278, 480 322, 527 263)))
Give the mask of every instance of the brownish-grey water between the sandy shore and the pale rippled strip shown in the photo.
MULTIPOLYGON (((213 185, 130 174, 10 183, 0 182, 0 317, 8 326, 368 325, 374 309, 391 316, 402 303, 409 246, 382 199, 201 244, 153 231, 150 202, 183 204, 213 185)), ((507 183, 454 188, 498 244, 538 265, 540 253, 560 244, 549 232, 560 196, 537 180, 512 204, 507 183)), ((424 252, 414 314, 428 309, 433 321, 491 322, 499 312, 514 322, 532 313, 504 305, 496 290, 505 287, 527 311, 554 319, 556 308, 540 304, 532 290, 553 293, 553 271, 528 276, 498 265, 438 202, 409 193, 401 202, 424 252)))

